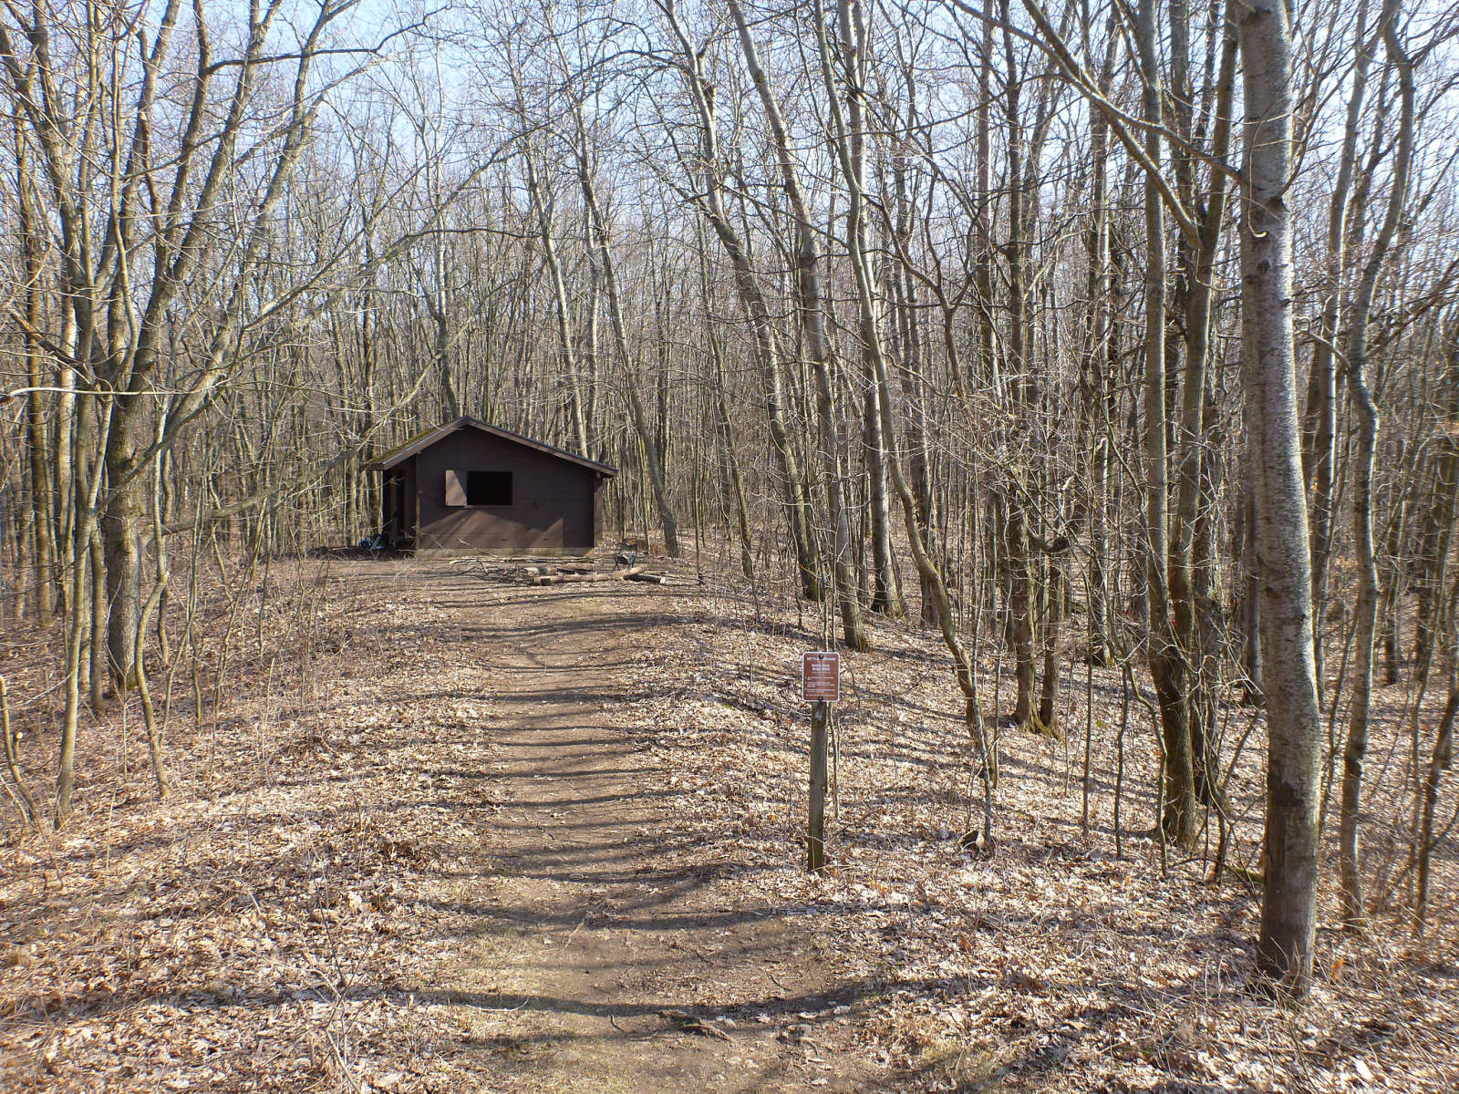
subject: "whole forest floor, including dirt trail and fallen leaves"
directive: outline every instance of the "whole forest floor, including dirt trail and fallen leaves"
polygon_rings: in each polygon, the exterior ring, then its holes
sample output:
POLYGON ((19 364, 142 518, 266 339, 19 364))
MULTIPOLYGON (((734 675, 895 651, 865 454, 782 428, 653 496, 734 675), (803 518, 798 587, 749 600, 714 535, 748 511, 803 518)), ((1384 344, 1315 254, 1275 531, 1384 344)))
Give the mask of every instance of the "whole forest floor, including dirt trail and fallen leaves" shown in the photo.
MULTIPOLYGON (((191 643, 153 670, 172 794, 114 703, 83 728, 71 823, 4 833, 0 1090, 1459 1085, 1452 845, 1421 942, 1341 932, 1325 881, 1313 996, 1274 1006, 1250 884, 1151 837, 1154 737, 1118 671, 1071 658, 1068 740, 1004 731, 983 859, 959 842, 980 795, 947 658, 884 624, 845 655, 832 868, 808 877, 797 672, 826 620, 674 573, 306 560, 210 586, 198 691, 191 643)), ((32 788, 47 642, 0 639, 32 788)), ((1253 718, 1224 712, 1246 869, 1253 718)), ((1379 721, 1374 888, 1402 865, 1380 837, 1401 719, 1379 721)))

